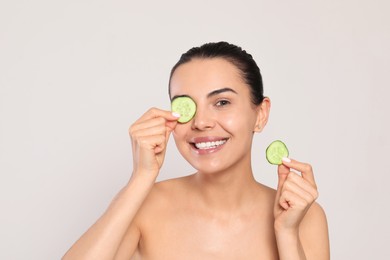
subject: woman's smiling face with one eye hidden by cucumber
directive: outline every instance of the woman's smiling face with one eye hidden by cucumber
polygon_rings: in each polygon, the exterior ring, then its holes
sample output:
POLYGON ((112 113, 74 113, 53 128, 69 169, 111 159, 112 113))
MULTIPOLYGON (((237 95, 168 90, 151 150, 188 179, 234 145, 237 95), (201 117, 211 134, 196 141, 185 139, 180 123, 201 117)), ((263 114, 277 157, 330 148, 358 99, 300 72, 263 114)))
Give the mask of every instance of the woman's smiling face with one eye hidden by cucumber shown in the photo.
POLYGON ((253 132, 263 113, 232 63, 213 58, 182 64, 172 75, 170 91, 172 98, 186 95, 197 105, 193 119, 173 132, 180 153, 195 169, 211 173, 250 165, 253 132))

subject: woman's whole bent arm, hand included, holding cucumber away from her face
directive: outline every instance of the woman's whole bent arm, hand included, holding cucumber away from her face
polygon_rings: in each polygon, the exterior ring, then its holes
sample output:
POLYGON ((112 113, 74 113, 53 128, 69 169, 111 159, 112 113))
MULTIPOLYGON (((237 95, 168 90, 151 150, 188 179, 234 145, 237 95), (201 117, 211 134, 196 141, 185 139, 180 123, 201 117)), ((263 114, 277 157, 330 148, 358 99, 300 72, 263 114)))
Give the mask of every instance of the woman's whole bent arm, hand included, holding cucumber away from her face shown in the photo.
POLYGON ((274 215, 280 259, 328 260, 328 226, 324 211, 314 202, 318 192, 311 166, 287 159, 278 174, 274 215))

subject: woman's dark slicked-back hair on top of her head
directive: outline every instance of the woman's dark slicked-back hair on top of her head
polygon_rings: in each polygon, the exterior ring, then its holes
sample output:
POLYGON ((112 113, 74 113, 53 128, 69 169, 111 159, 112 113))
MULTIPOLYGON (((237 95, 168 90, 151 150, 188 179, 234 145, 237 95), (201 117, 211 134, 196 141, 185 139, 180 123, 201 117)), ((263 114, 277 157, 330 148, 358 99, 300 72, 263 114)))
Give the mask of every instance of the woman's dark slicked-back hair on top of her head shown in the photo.
POLYGON ((190 62, 192 59, 212 59, 223 58, 236 66, 241 73, 245 83, 250 87, 252 103, 261 104, 264 99, 263 79, 260 69, 257 66, 252 55, 247 53, 241 47, 227 42, 211 42, 203 44, 200 47, 193 47, 186 53, 183 53, 179 61, 173 66, 169 76, 169 96, 171 78, 175 70, 182 64, 190 62))

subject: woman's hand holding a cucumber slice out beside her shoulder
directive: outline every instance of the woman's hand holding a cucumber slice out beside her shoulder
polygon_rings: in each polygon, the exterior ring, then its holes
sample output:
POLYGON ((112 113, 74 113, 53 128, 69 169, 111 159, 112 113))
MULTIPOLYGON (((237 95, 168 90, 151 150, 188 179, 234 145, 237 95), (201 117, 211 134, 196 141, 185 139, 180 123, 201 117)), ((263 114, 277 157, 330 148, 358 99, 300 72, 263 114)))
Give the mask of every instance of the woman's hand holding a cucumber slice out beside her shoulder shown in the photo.
POLYGON ((286 158, 278 166, 278 175, 274 205, 275 231, 298 234, 299 224, 318 197, 313 169, 309 164, 286 158))

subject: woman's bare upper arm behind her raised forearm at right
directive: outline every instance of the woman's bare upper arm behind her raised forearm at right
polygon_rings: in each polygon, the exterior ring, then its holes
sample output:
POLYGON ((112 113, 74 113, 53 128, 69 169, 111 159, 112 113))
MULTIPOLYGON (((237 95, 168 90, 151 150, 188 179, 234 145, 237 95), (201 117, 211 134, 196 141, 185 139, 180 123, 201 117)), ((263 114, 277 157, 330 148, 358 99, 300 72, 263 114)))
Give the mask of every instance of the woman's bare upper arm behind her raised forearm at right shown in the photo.
POLYGON ((299 235, 308 259, 329 259, 326 214, 317 202, 312 204, 303 218, 299 227, 299 235))

